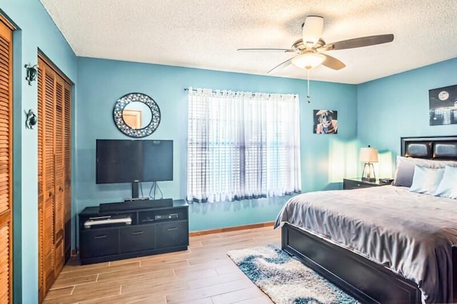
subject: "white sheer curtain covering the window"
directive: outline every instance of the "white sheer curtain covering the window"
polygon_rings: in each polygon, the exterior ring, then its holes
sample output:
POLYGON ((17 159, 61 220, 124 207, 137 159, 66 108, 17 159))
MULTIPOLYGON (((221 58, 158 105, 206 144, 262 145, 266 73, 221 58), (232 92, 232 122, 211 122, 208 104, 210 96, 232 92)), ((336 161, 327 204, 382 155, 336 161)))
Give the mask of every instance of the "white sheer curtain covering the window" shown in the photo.
POLYGON ((298 95, 189 88, 187 200, 301 191, 298 95))

